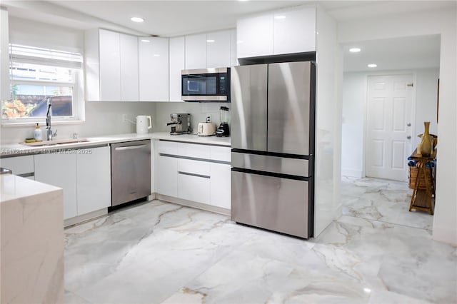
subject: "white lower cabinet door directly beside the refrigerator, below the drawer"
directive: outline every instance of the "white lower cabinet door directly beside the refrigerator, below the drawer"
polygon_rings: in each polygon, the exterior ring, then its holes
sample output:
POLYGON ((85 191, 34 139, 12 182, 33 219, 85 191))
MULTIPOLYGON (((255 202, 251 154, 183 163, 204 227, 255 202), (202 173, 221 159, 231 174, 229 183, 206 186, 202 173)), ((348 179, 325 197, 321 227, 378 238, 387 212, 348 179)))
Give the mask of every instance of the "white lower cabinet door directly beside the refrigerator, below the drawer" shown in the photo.
POLYGON ((212 206, 230 209, 230 165, 211 163, 211 197, 212 206))

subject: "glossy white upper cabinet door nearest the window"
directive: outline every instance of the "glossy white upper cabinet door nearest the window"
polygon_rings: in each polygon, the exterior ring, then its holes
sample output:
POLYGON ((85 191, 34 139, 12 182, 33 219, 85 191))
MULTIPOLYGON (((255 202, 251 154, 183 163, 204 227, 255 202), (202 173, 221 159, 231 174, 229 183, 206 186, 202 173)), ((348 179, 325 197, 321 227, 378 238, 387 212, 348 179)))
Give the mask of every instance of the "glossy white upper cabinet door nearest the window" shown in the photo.
POLYGON ((121 101, 121 51, 119 33, 99 30, 100 100, 121 101))

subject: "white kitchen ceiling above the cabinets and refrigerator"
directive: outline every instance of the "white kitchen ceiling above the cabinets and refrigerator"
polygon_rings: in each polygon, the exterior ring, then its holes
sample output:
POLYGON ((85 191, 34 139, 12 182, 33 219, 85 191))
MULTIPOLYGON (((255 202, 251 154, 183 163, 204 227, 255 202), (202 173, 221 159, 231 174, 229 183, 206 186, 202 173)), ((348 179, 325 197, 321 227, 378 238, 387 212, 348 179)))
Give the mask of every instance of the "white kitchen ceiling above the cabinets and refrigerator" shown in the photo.
POLYGON ((103 24, 107 29, 119 30, 121 26, 132 34, 157 36, 230 29, 236 26, 236 19, 241 16, 315 3, 323 6, 336 20, 348 21, 405 11, 443 9, 455 6, 456 1, 2 1, 12 16, 76 29, 103 24), (131 16, 141 16, 145 22, 136 24, 130 21, 131 16))

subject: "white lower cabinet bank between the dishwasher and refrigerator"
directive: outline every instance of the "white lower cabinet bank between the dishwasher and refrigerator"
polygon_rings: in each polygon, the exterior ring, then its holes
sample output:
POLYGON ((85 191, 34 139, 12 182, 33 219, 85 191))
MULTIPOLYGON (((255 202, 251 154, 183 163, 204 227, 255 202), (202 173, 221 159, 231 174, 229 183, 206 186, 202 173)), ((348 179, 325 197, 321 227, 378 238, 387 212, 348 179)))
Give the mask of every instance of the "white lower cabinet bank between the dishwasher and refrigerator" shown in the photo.
POLYGON ((170 141, 156 147, 157 193, 230 209, 230 147, 170 141))

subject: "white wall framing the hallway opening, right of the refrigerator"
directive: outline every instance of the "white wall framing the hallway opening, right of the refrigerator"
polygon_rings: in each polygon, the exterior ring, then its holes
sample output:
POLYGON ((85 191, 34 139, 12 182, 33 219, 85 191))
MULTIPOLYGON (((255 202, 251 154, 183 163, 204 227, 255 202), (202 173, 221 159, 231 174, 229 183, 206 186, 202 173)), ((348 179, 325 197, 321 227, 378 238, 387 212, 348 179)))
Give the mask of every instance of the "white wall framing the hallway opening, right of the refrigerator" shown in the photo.
POLYGON ((439 146, 433 238, 453 244, 457 244, 456 15, 456 9, 409 12, 383 18, 346 21, 338 26, 340 44, 441 34, 439 146))

